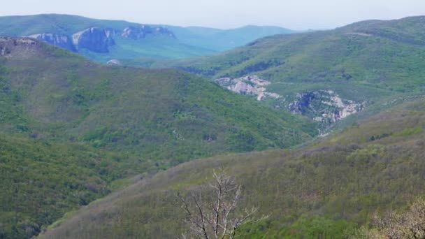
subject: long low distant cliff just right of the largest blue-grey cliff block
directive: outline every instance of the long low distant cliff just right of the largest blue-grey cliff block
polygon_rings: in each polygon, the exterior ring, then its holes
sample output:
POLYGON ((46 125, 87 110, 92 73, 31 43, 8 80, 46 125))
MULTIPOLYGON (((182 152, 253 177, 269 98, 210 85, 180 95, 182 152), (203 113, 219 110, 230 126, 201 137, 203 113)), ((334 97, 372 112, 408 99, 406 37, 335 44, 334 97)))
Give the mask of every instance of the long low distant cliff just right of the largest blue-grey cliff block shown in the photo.
POLYGON ((175 38, 173 32, 164 27, 150 27, 147 25, 141 25, 140 27, 126 27, 121 34, 123 38, 130 38, 134 40, 146 38, 148 35, 175 38))

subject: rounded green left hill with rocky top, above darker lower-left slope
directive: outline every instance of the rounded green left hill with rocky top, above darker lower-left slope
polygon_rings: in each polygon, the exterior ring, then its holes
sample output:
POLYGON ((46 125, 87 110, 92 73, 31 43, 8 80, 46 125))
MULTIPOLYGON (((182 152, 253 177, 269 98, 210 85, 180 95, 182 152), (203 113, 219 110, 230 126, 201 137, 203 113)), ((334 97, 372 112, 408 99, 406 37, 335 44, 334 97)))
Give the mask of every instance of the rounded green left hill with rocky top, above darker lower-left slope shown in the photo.
POLYGON ((189 73, 102 66, 27 38, 0 38, 1 79, 15 115, 1 128, 91 142, 176 164, 218 152, 289 147, 313 124, 189 73))

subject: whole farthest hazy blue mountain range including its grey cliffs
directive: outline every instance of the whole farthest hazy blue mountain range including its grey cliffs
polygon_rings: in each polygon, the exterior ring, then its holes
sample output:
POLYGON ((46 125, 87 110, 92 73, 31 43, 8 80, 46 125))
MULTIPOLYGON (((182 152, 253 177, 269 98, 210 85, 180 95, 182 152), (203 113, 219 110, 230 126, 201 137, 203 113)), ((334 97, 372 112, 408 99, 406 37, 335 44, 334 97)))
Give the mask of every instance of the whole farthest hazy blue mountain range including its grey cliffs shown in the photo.
POLYGON ((0 17, 0 36, 30 36, 101 62, 211 55, 259 37, 292 32, 280 27, 247 26, 222 30, 58 14, 0 17))

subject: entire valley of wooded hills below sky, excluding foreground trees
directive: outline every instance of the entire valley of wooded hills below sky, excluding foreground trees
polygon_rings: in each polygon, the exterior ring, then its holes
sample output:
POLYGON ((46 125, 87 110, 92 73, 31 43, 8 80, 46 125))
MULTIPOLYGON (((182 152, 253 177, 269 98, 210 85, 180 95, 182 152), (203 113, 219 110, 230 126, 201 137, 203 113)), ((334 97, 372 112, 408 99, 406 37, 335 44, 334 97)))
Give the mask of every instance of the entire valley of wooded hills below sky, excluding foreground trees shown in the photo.
POLYGON ((218 168, 241 238, 367 238, 425 195, 424 26, 0 17, 0 238, 191 235, 218 168))

